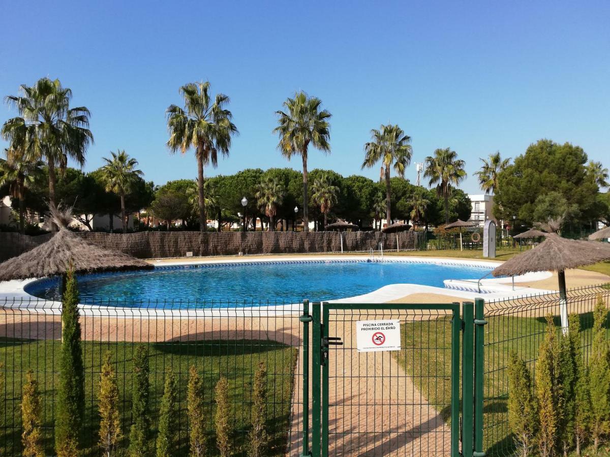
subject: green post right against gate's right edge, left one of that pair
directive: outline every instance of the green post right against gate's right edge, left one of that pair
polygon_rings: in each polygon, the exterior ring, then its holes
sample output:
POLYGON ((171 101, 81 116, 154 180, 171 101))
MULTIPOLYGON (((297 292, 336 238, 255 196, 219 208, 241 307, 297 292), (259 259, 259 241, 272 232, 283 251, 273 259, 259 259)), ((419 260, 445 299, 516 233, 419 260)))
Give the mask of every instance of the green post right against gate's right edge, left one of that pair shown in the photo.
POLYGON ((462 319, 464 331, 462 334, 462 456, 473 457, 473 419, 474 419, 474 349, 473 338, 475 313, 474 303, 462 303, 462 319))

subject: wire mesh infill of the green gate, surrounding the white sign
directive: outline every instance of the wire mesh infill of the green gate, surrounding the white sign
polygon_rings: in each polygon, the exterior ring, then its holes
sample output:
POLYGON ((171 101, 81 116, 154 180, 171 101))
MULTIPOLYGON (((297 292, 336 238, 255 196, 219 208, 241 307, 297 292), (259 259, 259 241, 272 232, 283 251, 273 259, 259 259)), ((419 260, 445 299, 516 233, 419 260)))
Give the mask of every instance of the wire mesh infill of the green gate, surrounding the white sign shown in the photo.
POLYGON ((457 452, 458 307, 325 303, 324 334, 343 345, 329 345, 324 362, 323 455, 449 456, 452 444, 457 452), (379 320, 400 321, 401 349, 359 352, 356 322, 379 320))

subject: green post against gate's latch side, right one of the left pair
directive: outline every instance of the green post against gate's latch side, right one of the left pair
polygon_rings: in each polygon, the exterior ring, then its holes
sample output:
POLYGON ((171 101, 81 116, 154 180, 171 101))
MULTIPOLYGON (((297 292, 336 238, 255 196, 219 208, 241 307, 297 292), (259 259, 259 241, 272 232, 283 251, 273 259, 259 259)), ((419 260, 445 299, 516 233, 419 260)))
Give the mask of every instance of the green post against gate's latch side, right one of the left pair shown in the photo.
POLYGON ((320 397, 320 368, 322 358, 322 335, 321 335, 321 321, 320 321, 320 302, 314 302, 312 308, 312 349, 313 354, 313 365, 312 365, 312 420, 311 420, 311 455, 313 457, 320 457, 320 446, 321 446, 321 397, 320 397))

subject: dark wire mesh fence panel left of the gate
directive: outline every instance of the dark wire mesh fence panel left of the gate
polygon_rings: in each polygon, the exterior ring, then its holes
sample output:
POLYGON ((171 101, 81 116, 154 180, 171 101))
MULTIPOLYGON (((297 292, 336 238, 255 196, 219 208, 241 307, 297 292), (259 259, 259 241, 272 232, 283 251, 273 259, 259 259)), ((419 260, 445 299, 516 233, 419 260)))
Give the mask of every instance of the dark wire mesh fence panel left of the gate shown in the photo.
MULTIPOLYGON (((99 448, 99 379, 102 359, 110 353, 117 374, 120 448, 129 444, 132 424, 134 354, 144 345, 150 369, 149 441, 159 423, 160 401, 168 372, 178 378, 176 455, 188 455, 190 420, 187 383, 195 366, 203 380, 204 422, 209 455, 217 455, 214 433, 218 380, 228 380, 231 441, 234 455, 245 456, 253 411, 254 375, 266 372, 265 455, 298 455, 301 446, 302 326, 299 300, 289 302, 123 302, 106 300, 80 306, 85 403, 83 455, 99 448)), ((0 455, 20 456, 21 401, 26 372, 32 370, 41 393, 41 426, 45 455, 55 455, 61 305, 42 300, 0 303, 0 455)))

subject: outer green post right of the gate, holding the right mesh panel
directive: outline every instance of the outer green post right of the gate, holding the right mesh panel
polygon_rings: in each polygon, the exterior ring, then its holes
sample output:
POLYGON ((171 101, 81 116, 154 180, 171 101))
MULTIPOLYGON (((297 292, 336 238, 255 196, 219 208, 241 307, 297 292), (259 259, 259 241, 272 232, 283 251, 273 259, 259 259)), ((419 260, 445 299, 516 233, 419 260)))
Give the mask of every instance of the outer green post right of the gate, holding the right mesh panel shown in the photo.
POLYGON ((473 457, 485 457, 483 452, 483 370, 485 302, 475 299, 475 452, 473 457))

